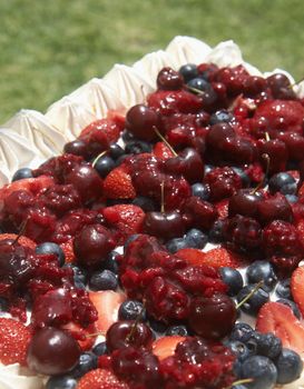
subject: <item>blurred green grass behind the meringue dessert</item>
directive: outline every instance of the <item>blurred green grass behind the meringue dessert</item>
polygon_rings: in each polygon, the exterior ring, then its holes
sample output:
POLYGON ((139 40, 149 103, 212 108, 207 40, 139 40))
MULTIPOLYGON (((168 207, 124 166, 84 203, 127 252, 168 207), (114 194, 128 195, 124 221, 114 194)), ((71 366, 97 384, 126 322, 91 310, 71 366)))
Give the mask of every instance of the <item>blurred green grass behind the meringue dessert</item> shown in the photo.
POLYGON ((188 34, 304 74, 302 0, 0 0, 0 122, 188 34))

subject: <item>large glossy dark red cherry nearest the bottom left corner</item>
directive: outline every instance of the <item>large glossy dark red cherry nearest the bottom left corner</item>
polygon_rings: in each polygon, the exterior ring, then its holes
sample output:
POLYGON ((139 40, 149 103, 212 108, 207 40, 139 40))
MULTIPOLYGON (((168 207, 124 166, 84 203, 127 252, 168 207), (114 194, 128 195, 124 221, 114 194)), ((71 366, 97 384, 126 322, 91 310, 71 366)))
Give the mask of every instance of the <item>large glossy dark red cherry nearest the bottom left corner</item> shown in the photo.
POLYGON ((49 327, 33 335, 27 362, 31 370, 40 375, 55 376, 70 371, 79 357, 78 342, 68 332, 49 327))

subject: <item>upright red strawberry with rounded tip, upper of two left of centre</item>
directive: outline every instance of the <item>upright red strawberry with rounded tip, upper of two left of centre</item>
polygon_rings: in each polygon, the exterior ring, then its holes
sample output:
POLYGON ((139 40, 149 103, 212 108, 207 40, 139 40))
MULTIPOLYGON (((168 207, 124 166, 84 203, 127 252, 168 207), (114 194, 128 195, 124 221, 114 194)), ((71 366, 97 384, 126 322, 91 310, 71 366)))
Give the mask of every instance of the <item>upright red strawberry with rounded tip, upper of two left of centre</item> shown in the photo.
POLYGON ((136 191, 130 174, 121 167, 110 171, 104 181, 104 193, 109 199, 134 199, 136 191))

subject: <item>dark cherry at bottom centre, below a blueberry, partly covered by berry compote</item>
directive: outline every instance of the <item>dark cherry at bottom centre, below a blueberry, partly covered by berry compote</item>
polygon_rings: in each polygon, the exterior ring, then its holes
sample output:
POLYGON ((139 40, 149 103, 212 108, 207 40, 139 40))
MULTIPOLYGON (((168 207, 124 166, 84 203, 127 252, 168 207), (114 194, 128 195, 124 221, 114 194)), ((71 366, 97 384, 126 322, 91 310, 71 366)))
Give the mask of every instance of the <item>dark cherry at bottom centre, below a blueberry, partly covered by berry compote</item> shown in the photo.
POLYGON ((128 346, 150 348, 153 331, 144 322, 116 321, 107 331, 106 342, 110 352, 128 346))

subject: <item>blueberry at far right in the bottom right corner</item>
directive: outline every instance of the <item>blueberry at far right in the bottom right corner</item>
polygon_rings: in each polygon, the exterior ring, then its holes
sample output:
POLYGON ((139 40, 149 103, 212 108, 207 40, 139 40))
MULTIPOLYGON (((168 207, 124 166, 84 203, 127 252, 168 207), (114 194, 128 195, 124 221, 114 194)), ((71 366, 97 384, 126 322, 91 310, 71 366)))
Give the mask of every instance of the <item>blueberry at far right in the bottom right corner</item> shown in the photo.
POLYGON ((275 361, 277 369, 277 383, 290 383, 296 380, 303 370, 303 361, 298 353, 283 349, 275 361))

